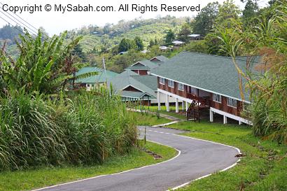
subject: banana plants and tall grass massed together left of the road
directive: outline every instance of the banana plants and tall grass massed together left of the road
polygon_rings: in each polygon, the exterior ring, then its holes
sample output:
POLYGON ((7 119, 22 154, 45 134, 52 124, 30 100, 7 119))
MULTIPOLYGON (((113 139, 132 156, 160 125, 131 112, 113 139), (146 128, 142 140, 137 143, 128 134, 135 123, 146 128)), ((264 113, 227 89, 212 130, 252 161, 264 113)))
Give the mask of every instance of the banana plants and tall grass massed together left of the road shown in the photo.
POLYGON ((85 64, 73 62, 80 38, 64 45, 64 36, 26 33, 16 60, 1 49, 0 171, 103 162, 137 141, 134 120, 118 97, 105 89, 67 91, 85 64))

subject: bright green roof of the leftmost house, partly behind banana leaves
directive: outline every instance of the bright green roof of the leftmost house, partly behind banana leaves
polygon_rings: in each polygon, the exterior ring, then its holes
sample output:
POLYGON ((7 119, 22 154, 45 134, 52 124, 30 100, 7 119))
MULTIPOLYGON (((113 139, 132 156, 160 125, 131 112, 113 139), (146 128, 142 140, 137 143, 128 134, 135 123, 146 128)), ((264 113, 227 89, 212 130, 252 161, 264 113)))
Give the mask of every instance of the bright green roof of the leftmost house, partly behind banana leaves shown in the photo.
POLYGON ((99 69, 97 67, 84 67, 83 69, 80 69, 77 73, 76 76, 79 76, 80 74, 83 73, 89 73, 89 72, 94 72, 97 71, 98 75, 95 76, 90 76, 87 78, 80 78, 76 80, 76 83, 104 83, 107 80, 114 78, 118 76, 118 73, 115 73, 113 71, 106 71, 106 75, 104 73, 104 69, 99 69))

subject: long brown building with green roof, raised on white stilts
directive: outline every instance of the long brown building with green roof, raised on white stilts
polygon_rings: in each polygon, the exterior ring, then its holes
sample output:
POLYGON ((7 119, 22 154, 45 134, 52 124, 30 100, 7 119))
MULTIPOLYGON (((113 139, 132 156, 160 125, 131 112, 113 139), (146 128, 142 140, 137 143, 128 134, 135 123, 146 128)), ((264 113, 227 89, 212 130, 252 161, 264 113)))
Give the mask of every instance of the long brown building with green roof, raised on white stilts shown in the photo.
MULTIPOLYGON (((244 57, 239 57, 237 64, 246 71, 244 57)), ((186 105, 187 118, 199 120, 202 111, 207 110, 211 122, 216 113, 223 115, 223 123, 230 118, 239 121, 239 125, 242 122, 251 125, 241 116, 244 104, 251 102, 245 90, 245 99, 241 98, 237 69, 230 57, 181 52, 149 73, 158 77, 158 103, 164 97, 167 111, 170 97, 173 97, 176 112, 179 112, 179 101, 186 105)))

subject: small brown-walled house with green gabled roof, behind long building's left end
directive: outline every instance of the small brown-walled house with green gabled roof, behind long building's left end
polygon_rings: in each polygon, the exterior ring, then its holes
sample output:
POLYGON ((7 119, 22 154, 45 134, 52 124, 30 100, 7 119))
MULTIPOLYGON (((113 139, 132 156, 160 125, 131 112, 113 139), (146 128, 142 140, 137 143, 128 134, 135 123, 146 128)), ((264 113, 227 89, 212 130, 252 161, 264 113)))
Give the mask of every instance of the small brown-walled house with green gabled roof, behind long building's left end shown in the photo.
POLYGON ((155 62, 151 62, 148 59, 141 60, 139 62, 136 62, 132 64, 132 66, 127 67, 125 70, 131 70, 135 73, 138 73, 139 75, 148 75, 148 71, 151 69, 155 69, 159 65, 155 62))

